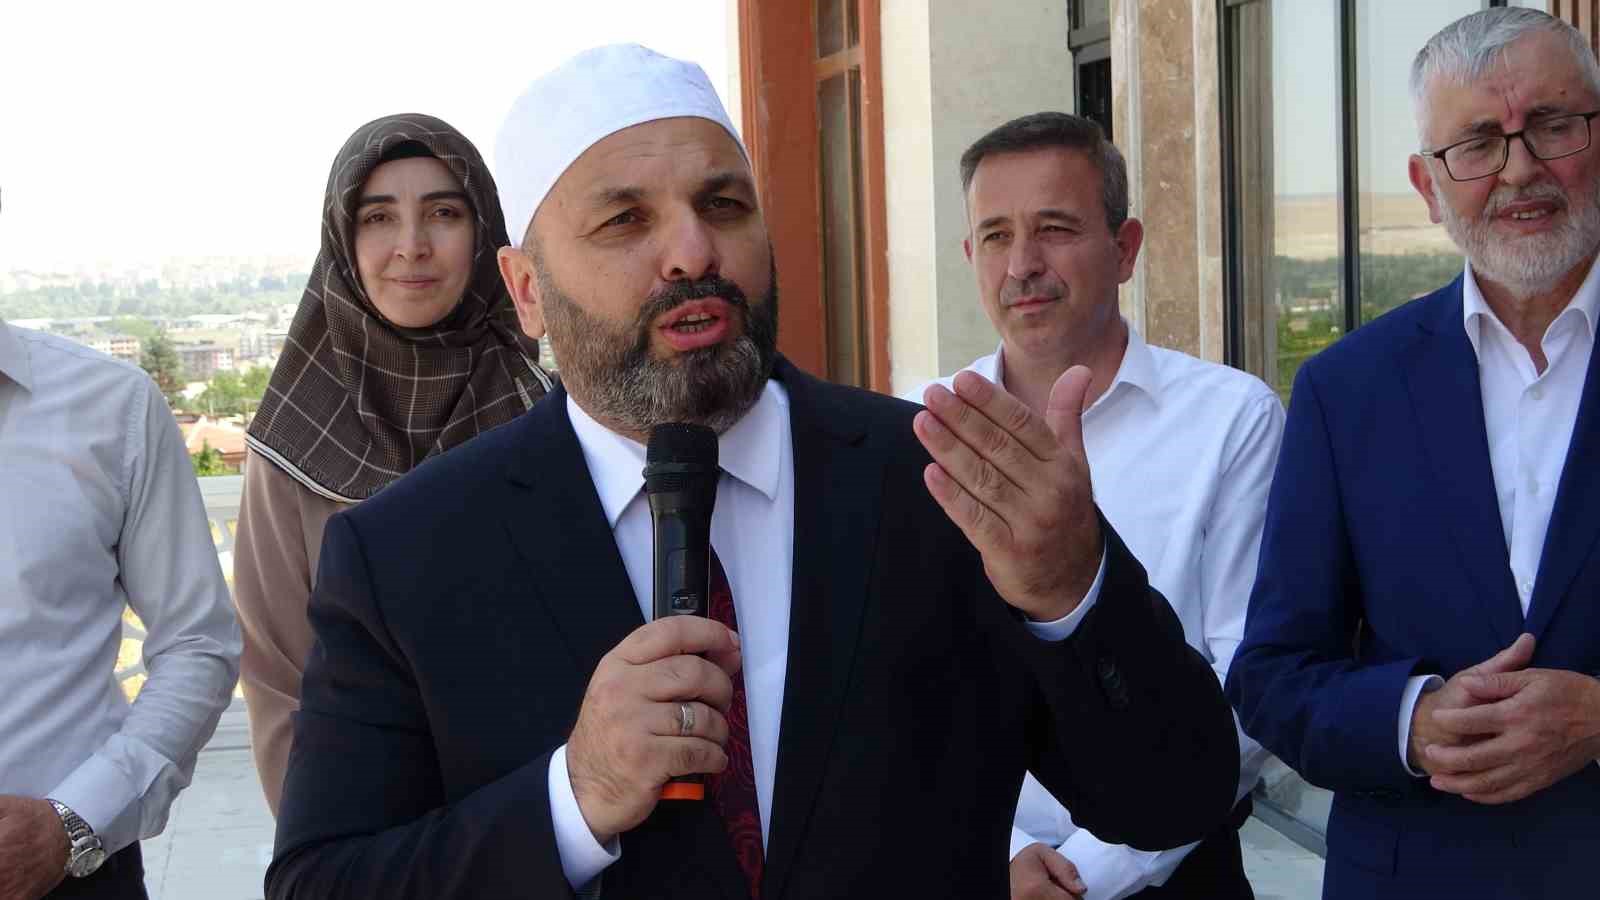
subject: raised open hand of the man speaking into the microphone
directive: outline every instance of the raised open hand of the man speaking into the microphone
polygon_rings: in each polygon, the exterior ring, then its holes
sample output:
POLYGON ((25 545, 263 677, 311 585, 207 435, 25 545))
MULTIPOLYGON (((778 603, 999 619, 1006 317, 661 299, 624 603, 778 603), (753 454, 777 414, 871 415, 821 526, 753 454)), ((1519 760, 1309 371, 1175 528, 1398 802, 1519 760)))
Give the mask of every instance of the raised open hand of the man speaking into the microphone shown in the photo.
POLYGON ((931 386, 917 439, 933 456, 928 492, 982 556, 1005 602, 1035 621, 1070 613, 1094 585, 1104 538, 1083 450, 1090 370, 1069 368, 1045 416, 963 372, 931 386))

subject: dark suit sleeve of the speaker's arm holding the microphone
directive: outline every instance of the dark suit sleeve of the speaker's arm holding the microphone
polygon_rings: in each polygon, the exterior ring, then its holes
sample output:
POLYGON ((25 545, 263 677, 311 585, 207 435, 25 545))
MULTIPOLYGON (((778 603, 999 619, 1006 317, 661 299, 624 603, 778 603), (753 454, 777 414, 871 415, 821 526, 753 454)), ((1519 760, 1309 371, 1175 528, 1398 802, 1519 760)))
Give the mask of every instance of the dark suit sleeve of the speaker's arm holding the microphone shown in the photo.
POLYGON ((502 897, 509 884, 520 897, 571 897, 550 825, 550 754, 445 804, 427 713, 368 572, 354 525, 334 516, 267 897, 502 897))

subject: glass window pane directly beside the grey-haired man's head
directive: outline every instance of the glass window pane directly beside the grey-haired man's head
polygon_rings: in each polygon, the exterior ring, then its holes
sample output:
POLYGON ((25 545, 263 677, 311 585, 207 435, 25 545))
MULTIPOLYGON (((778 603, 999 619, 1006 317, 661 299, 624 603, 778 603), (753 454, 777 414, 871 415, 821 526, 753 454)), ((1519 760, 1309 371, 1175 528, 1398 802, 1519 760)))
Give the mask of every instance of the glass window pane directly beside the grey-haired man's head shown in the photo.
POLYGON ((1411 58, 1478 0, 1355 6, 1360 136, 1362 322, 1429 293, 1461 274, 1461 251, 1411 187, 1406 160, 1419 146, 1411 114, 1411 58))

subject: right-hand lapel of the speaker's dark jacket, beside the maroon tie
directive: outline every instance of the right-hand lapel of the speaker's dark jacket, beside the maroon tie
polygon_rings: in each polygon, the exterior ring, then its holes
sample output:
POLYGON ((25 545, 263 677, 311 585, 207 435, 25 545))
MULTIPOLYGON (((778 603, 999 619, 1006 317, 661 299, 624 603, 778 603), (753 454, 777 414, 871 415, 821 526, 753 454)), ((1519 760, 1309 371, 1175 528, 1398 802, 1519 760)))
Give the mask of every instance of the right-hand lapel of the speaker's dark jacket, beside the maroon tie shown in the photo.
POLYGON ((794 581, 778 775, 762 895, 779 900, 805 838, 867 602, 883 460, 824 384, 779 360, 794 436, 794 581))

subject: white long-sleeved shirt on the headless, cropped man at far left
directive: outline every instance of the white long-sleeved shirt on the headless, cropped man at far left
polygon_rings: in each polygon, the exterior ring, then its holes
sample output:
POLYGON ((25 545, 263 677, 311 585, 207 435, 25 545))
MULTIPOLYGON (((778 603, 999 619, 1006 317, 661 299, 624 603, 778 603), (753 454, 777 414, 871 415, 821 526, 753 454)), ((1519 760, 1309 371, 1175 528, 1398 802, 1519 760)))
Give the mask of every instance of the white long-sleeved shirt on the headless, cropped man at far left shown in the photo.
POLYGON ((238 677, 200 485, 144 372, 0 322, 0 794, 61 801, 115 852, 160 833, 238 677))

